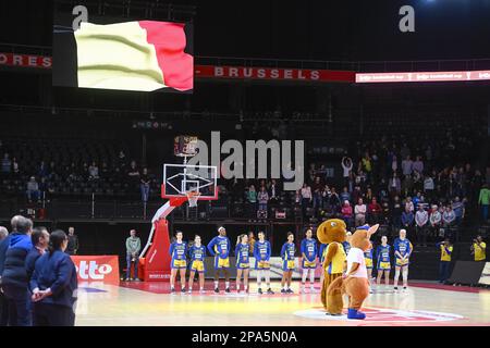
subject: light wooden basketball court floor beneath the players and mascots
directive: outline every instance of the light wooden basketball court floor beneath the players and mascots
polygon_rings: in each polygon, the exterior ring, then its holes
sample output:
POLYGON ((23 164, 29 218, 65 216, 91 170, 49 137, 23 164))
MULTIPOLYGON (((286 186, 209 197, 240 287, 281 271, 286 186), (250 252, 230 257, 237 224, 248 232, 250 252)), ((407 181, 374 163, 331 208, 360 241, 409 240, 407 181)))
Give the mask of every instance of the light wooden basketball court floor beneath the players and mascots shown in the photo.
MULTIPOLYGON (((366 300, 364 321, 324 314, 318 293, 216 295, 212 284, 199 294, 169 294, 168 283, 79 284, 76 325, 79 326, 208 326, 208 325, 485 325, 490 326, 490 290, 409 286, 406 291, 375 289, 366 300)), ((279 290, 279 284, 273 285, 279 290)), ((317 289, 318 290, 318 289, 317 289)))

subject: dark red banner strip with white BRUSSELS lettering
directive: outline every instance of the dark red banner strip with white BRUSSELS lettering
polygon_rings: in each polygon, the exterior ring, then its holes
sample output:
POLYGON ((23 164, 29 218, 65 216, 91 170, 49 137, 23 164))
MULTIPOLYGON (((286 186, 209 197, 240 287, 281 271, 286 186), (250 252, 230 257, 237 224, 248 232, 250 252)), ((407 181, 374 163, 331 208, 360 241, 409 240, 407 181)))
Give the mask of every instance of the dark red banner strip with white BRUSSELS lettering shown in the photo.
POLYGON ((267 80, 295 80, 295 82, 342 82, 353 83, 355 72, 283 69, 283 67, 247 67, 247 66, 213 66, 195 65, 195 77, 200 78, 241 78, 267 80))

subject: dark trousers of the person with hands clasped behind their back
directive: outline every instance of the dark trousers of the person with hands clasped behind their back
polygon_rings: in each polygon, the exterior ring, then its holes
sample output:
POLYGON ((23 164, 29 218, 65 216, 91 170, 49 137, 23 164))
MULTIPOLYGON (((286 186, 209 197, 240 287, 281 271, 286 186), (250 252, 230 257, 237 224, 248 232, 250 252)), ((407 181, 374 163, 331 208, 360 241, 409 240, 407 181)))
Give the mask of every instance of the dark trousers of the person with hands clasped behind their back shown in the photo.
POLYGON ((34 326, 74 326, 75 313, 66 306, 34 303, 34 326))

